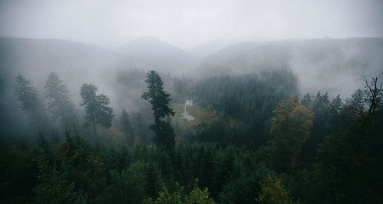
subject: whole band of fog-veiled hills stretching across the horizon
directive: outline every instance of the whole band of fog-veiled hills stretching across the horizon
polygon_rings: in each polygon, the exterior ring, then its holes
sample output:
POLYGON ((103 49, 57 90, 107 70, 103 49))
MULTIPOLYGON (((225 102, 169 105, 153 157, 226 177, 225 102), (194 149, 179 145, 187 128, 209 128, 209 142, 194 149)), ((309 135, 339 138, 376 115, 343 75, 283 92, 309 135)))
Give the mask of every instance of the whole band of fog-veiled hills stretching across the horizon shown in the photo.
MULTIPOLYGON (((198 55, 152 37, 133 40, 116 51, 66 40, 0 38, 0 73, 5 84, 17 72, 26 70, 39 74, 55 71, 74 80, 99 72, 105 75, 115 68, 155 69, 198 77, 290 69, 297 75, 302 93, 326 90, 344 95, 361 88, 355 83, 361 75, 373 76, 383 69, 383 39, 242 42, 207 57, 195 56, 198 55)), ((28 74, 32 80, 40 81, 37 74, 28 74)))

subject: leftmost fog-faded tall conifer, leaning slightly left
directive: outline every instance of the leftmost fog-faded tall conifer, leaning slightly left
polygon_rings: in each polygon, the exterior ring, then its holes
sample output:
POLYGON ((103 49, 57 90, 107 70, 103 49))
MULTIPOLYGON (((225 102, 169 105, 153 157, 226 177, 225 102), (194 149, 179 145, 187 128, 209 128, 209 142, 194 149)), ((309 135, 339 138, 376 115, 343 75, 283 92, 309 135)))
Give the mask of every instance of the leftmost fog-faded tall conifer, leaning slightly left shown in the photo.
POLYGON ((21 101, 22 110, 29 115, 29 119, 35 128, 43 130, 48 120, 44 103, 38 97, 37 90, 20 73, 17 74, 15 84, 15 94, 17 100, 21 101))

